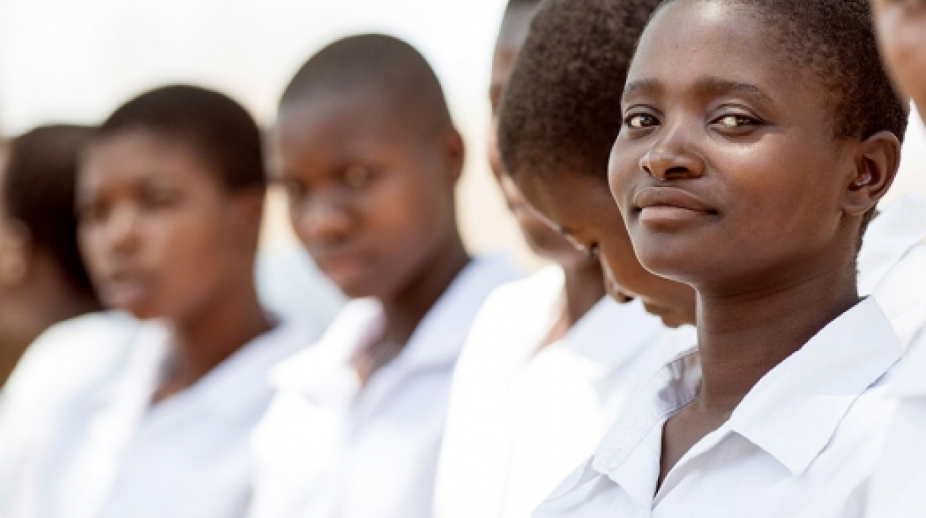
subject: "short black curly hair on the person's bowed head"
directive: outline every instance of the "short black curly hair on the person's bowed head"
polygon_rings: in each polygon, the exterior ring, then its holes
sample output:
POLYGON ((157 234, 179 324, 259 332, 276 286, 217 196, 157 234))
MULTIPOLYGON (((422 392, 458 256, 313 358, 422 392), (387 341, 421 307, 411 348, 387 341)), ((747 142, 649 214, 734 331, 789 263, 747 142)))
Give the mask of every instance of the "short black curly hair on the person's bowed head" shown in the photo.
POLYGON ((607 180, 620 97, 660 0, 548 0, 508 80, 498 147, 508 174, 569 168, 607 180))

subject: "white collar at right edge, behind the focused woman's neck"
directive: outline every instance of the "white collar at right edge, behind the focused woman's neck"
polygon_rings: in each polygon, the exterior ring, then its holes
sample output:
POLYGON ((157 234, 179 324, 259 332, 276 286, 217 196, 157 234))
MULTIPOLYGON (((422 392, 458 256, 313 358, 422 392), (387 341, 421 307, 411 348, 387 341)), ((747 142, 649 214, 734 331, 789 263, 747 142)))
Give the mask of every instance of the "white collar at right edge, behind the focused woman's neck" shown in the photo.
POLYGON ((858 253, 858 292, 870 295, 911 248, 926 240, 926 196, 909 193, 870 224, 858 253))

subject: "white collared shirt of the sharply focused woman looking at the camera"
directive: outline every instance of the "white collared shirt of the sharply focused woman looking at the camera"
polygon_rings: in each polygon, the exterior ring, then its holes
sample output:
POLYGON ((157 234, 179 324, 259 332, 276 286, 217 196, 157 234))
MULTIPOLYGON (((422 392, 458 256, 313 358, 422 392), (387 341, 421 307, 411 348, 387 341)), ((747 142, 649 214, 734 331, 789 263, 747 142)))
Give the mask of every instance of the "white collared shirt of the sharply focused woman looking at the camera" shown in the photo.
POLYGON ((697 351, 682 354, 533 517, 861 516, 902 353, 878 303, 859 302, 763 376, 657 492, 663 425, 700 384, 697 351))

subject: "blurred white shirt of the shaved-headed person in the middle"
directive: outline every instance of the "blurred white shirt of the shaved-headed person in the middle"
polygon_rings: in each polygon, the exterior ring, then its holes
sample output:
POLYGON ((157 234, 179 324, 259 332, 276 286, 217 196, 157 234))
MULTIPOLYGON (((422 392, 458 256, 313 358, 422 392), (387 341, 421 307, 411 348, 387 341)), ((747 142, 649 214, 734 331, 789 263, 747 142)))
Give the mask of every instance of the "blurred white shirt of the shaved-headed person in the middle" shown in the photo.
POLYGON ((379 302, 348 302, 316 346, 274 373, 279 391, 254 439, 251 516, 430 516, 457 356, 482 302, 515 277, 507 261, 474 260, 362 389, 350 358, 385 316, 379 302))

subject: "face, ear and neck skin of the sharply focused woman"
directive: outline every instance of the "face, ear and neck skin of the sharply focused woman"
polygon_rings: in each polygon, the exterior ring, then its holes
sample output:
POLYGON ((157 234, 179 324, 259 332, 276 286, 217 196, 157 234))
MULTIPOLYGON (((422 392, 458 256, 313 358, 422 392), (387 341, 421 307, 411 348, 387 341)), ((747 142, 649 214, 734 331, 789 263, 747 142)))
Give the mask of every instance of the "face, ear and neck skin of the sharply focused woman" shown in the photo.
POLYGON ((682 0, 653 19, 629 73, 611 187, 641 262, 698 301, 703 381, 664 427, 660 486, 858 302, 862 217, 899 165, 889 132, 837 140, 828 93, 770 48, 748 11, 682 0))

